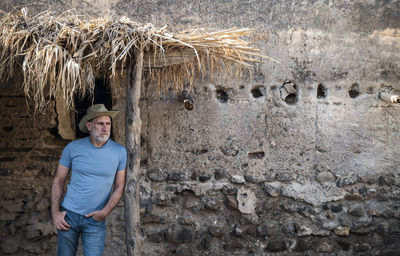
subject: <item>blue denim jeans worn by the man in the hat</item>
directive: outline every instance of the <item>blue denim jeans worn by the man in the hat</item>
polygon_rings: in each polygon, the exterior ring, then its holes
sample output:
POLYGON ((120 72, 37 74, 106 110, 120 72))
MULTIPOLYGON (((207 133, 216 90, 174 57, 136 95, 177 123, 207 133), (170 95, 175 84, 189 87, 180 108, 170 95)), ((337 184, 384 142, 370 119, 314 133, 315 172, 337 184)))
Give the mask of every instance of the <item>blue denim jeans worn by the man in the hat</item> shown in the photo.
MULTIPOLYGON (((63 209, 65 210, 65 209, 63 209)), ((85 256, 103 255, 106 240, 105 220, 99 222, 92 217, 86 218, 66 210, 65 220, 71 226, 69 230, 58 230, 58 256, 74 256, 78 249, 79 236, 82 235, 82 247, 85 256)))

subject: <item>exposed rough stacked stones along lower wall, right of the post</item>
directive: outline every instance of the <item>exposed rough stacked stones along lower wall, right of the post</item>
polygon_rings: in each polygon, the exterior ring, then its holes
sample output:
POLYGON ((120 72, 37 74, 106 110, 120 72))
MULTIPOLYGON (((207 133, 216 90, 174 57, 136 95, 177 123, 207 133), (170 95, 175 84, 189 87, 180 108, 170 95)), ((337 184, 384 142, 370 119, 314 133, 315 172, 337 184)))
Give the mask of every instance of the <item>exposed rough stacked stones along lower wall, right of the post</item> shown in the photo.
POLYGON ((162 170, 147 177, 158 189, 141 202, 144 255, 394 255, 399 249, 400 205, 392 200, 400 194, 390 186, 393 177, 349 183, 320 175, 319 185, 344 191, 322 204, 298 200, 285 194, 289 184, 263 177, 162 170))

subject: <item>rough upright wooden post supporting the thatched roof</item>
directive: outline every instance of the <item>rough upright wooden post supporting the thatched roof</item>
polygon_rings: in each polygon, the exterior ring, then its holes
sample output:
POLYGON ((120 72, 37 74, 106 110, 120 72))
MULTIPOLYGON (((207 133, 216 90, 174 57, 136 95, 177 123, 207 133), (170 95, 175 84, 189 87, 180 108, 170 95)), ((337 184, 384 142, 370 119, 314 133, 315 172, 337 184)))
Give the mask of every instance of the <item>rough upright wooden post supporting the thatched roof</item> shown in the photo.
POLYGON ((143 73, 143 49, 135 51, 135 64, 128 62, 126 85, 125 138, 128 164, 125 182, 126 247, 128 256, 141 255, 139 173, 140 173, 140 87, 143 73))

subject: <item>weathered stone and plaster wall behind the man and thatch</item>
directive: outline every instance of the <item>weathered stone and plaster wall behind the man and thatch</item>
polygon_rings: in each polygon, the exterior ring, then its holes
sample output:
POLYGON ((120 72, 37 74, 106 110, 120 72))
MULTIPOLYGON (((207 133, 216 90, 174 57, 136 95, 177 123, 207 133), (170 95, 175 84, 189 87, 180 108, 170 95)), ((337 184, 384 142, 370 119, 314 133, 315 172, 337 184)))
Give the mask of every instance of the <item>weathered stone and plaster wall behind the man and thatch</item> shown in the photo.
MULTIPOLYGON (((88 0, 30 8, 108 9, 171 30, 252 27, 250 40, 280 62, 237 80, 204 77, 191 91, 193 111, 144 84, 143 255, 395 255, 400 106, 379 93, 400 93, 399 5, 88 0)), ((54 255, 48 193, 68 141, 57 135, 54 106, 35 119, 26 113, 19 83, 0 93, 0 252, 54 255)), ((124 108, 123 97, 116 105, 124 108)), ((123 220, 121 202, 108 218, 105 255, 125 253, 123 220)))

